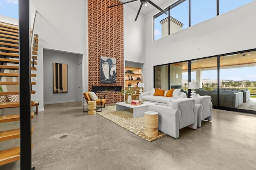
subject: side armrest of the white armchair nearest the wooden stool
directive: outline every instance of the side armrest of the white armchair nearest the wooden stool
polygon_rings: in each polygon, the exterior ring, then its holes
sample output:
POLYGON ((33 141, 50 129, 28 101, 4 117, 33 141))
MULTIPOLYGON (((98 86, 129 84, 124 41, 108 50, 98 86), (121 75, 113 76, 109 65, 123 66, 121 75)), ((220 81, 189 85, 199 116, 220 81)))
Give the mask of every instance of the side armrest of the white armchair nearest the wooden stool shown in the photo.
POLYGON ((158 112, 158 129, 174 138, 180 136, 180 117, 181 112, 179 109, 172 107, 150 105, 148 111, 158 112))

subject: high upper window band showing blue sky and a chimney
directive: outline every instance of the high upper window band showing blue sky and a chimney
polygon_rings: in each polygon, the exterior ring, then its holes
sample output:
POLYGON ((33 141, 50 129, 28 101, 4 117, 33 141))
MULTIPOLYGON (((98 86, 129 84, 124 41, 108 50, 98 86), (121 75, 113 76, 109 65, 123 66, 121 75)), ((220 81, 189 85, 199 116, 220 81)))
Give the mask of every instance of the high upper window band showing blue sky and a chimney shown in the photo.
POLYGON ((154 16, 154 40, 213 18, 254 0, 179 0, 154 16), (217 6, 217 2, 219 5, 217 6), (190 4, 190 5, 189 5, 190 4))

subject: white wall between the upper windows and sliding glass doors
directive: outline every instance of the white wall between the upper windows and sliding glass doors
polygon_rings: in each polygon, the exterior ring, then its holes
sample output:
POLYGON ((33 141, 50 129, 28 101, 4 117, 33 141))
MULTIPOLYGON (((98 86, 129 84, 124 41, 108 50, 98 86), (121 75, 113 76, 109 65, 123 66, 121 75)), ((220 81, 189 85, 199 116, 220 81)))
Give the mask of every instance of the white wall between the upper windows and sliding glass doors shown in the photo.
MULTIPOLYGON (((164 4, 165 8, 170 5, 164 4)), ((224 53, 254 49, 256 46, 256 1, 152 41, 152 17, 146 16, 146 91, 153 87, 153 66, 224 53)))

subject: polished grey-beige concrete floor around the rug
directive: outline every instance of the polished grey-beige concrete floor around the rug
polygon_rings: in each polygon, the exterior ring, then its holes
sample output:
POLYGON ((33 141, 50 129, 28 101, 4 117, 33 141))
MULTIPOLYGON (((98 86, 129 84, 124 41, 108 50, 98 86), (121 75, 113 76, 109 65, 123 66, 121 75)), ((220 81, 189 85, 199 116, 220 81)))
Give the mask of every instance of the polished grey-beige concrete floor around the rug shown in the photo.
MULTIPOLYGON (((255 170, 256 115, 213 109, 212 122, 148 142, 81 102, 44 106, 32 119, 36 170, 255 170), (63 135, 67 137, 60 139, 63 135)), ((19 161, 0 166, 19 169, 19 161)))

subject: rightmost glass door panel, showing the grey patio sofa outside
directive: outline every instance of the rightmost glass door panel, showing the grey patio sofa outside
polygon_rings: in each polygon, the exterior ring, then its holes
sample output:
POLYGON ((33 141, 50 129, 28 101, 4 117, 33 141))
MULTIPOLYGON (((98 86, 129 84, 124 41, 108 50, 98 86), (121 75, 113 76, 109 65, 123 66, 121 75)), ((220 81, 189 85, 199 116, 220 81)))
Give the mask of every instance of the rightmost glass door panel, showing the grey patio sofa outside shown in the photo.
POLYGON ((220 106, 256 110, 255 95, 256 51, 220 56, 220 106))

